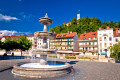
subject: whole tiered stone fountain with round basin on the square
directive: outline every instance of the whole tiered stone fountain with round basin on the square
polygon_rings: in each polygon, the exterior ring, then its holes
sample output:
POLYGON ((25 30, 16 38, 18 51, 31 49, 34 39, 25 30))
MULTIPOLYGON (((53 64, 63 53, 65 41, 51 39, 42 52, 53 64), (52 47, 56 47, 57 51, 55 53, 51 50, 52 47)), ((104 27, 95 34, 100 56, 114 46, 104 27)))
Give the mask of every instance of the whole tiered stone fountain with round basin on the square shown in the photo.
POLYGON ((18 63, 13 66, 12 73, 17 76, 30 78, 50 78, 63 76, 71 72, 72 66, 60 61, 47 61, 47 54, 55 54, 55 49, 48 48, 48 39, 55 39, 56 35, 48 32, 47 25, 52 24, 52 19, 45 17, 40 18, 39 22, 44 25, 43 31, 35 32, 35 37, 43 40, 42 49, 34 49, 32 54, 40 55, 39 62, 18 63))

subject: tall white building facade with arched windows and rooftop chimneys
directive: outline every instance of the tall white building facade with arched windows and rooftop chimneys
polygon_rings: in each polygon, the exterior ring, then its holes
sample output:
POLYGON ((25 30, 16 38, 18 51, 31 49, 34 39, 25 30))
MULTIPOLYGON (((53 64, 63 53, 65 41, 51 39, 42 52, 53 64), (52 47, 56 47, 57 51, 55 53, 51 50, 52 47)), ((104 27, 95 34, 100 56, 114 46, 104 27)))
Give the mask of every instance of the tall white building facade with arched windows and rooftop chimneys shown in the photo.
POLYGON ((100 55, 106 55, 106 57, 110 57, 110 50, 109 47, 113 46, 113 28, 109 28, 107 26, 106 29, 101 29, 99 27, 99 30, 97 32, 98 36, 98 53, 100 55))

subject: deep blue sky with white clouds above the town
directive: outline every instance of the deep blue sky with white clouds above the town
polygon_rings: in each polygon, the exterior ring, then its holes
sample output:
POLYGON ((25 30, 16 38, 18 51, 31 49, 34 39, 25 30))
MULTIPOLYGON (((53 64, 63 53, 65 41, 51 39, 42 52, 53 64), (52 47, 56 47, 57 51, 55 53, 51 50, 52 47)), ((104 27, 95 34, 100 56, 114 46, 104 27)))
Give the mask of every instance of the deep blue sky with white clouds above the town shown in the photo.
POLYGON ((53 28, 72 18, 96 17, 102 22, 120 21, 120 0, 0 0, 0 37, 42 31, 39 18, 48 14, 53 28))

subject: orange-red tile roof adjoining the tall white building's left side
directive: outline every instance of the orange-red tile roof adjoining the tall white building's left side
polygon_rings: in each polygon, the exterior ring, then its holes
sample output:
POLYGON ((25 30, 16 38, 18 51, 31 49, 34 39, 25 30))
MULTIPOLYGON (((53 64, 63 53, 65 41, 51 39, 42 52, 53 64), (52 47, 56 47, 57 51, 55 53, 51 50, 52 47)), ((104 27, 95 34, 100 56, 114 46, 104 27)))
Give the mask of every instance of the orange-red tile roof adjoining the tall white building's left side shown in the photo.
POLYGON ((80 35, 79 40, 83 40, 85 38, 85 40, 89 40, 89 38, 91 38, 91 40, 93 40, 94 37, 97 37, 97 32, 85 32, 83 34, 80 35))

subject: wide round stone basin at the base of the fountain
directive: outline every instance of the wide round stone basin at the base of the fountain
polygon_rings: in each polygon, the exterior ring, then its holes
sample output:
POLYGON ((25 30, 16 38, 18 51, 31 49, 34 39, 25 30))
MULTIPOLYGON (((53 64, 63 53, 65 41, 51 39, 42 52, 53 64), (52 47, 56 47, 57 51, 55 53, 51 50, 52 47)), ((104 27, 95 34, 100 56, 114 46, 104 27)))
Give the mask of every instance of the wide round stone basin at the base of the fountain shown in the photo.
MULTIPOLYGON (((42 67, 24 67, 22 65, 30 63, 18 63, 13 66, 12 73, 17 76, 29 77, 29 78, 50 78, 50 77, 60 77, 72 71, 72 66, 68 63, 60 66, 48 66, 42 65, 42 67), (43 67, 47 66, 47 67, 43 67)), ((36 64, 36 63, 33 63, 36 64)), ((37 63, 38 64, 38 63, 37 63)))

